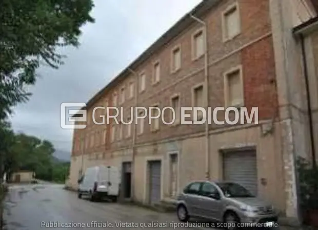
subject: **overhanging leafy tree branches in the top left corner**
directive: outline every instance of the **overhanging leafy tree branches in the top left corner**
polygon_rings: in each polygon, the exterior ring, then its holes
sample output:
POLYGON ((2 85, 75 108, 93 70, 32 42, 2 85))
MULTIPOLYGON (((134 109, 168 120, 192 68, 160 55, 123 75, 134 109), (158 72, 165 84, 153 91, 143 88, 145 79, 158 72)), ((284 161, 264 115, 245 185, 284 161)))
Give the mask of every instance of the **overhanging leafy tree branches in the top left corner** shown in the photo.
POLYGON ((78 47, 81 26, 94 22, 92 8, 92 0, 0 1, 0 120, 28 99, 39 65, 63 64, 57 48, 78 47))

